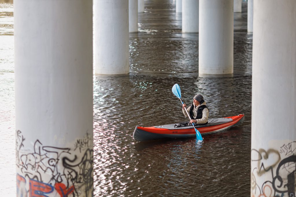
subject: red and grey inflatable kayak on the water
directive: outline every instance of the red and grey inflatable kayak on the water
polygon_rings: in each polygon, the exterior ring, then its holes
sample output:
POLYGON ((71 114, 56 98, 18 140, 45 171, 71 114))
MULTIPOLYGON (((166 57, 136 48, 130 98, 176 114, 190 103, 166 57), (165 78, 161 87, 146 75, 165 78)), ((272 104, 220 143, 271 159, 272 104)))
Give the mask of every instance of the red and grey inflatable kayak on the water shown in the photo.
MULTIPOLYGON (((239 114, 226 118, 209 119, 206 125, 197 125, 195 128, 197 128, 201 135, 206 135, 218 131, 225 131, 233 126, 240 125, 243 122, 244 114, 239 114)), ((152 127, 136 126, 136 129, 133 132, 133 138, 137 141, 188 137, 196 137, 194 128, 192 125, 186 126, 186 124, 181 123, 152 127)))

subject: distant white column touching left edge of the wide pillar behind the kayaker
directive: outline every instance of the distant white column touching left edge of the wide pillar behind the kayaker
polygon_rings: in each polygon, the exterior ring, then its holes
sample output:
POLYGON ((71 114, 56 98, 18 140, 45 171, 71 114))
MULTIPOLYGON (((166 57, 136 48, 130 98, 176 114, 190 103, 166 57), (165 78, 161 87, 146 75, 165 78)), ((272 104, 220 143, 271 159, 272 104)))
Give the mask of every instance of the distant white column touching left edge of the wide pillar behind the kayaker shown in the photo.
POLYGON ((182 32, 198 32, 199 0, 185 0, 182 3, 182 32))

